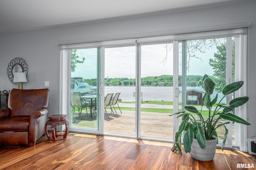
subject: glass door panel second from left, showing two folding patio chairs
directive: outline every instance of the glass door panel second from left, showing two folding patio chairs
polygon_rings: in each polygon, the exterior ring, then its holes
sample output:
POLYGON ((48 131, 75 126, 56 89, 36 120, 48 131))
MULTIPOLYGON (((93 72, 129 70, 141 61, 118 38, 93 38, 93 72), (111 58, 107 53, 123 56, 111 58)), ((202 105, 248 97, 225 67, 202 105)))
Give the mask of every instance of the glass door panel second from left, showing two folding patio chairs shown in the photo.
POLYGON ((104 133, 135 136, 135 46, 105 48, 104 85, 104 133), (112 95, 110 103, 108 101, 108 95, 112 95))

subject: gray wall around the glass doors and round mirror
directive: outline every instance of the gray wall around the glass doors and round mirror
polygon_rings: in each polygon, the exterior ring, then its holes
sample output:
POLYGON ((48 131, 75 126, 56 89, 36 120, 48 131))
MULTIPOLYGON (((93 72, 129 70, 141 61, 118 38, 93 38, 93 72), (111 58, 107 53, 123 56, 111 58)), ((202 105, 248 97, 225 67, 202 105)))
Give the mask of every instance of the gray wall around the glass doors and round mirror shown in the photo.
POLYGON ((229 6, 175 12, 156 16, 91 23, 23 33, 0 35, 0 90, 15 88, 10 83, 6 68, 15 57, 26 60, 29 68, 28 82, 24 88, 44 88, 44 81, 50 81, 49 114, 58 113, 58 46, 57 41, 143 33, 206 25, 218 25, 250 21, 248 34, 248 91, 249 113, 252 124, 248 137, 256 135, 256 2, 229 6))

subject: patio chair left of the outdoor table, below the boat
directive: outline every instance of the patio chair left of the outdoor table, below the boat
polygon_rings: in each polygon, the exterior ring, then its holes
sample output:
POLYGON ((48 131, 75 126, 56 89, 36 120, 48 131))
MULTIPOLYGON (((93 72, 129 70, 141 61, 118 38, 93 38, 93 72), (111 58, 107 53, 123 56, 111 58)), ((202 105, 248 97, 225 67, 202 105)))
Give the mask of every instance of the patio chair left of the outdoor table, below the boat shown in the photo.
POLYGON ((75 108, 78 107, 79 120, 80 120, 80 115, 82 113, 82 109, 86 108, 86 115, 88 114, 87 107, 91 107, 90 101, 87 101, 84 99, 81 100, 80 94, 75 94, 75 93, 71 94, 70 99, 71 99, 71 107, 72 107, 73 113, 75 112, 75 108))

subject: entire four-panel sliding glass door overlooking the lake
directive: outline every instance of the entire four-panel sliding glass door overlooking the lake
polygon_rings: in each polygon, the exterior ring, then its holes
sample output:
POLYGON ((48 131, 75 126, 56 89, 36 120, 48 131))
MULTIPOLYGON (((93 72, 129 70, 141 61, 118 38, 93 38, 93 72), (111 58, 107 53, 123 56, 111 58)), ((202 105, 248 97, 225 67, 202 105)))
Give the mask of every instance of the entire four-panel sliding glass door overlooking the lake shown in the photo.
MULTIPOLYGON (((62 100, 66 99, 63 104, 70 115, 71 131, 174 141, 181 117, 169 115, 184 111, 186 105, 201 109, 204 74, 216 83, 211 99, 218 94, 217 103, 224 86, 241 79, 235 77, 240 35, 173 41, 160 38, 62 47, 63 66, 67 67, 63 67, 63 75, 68 75, 61 80, 62 100)), ((224 97, 220 104, 228 106, 234 95, 224 97)), ((203 106, 205 119, 207 112, 203 106)), ((239 115, 239 110, 235 114, 239 115)), ((226 147, 239 145, 235 124, 226 128, 232 132, 226 147)), ((217 129, 219 145, 225 130, 224 126, 217 129)))

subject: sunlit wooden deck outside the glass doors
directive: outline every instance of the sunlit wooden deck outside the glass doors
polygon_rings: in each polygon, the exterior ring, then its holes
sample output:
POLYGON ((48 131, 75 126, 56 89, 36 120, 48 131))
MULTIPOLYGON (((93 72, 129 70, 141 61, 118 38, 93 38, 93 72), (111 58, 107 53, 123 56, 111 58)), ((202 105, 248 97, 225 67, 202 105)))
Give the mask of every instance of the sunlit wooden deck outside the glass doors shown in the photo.
MULTIPOLYGON (((107 110, 110 113, 110 110, 107 110)), ((104 117, 104 133, 115 133, 124 135, 135 135, 135 111, 123 110, 122 114, 119 110, 116 110, 118 116, 113 113, 105 114, 104 117)), ((76 119, 78 119, 78 113, 75 113, 76 119)), ((92 118, 90 114, 86 114, 83 110, 78 123, 73 123, 72 127, 90 127, 92 129, 97 128, 96 116, 92 118)), ((179 122, 181 119, 179 119, 179 122)), ((217 133, 219 140, 224 137, 225 129, 218 128, 217 133)), ((156 137, 173 139, 173 124, 172 116, 169 113, 154 113, 154 112, 141 112, 141 128, 140 135, 142 137, 156 137)), ((234 139, 234 128, 233 128, 233 139, 234 139)))

